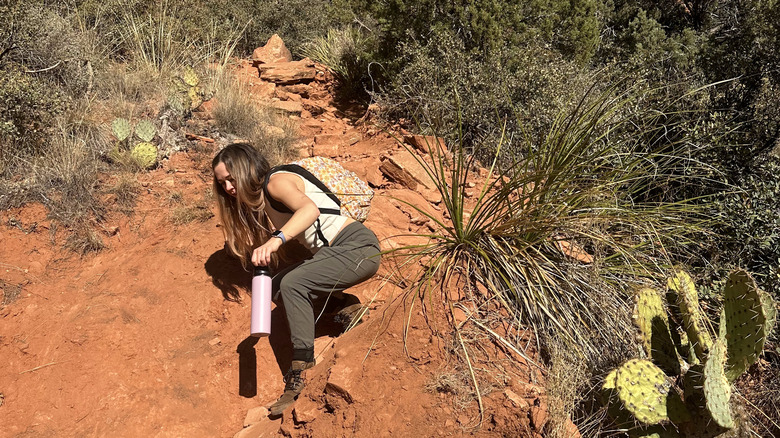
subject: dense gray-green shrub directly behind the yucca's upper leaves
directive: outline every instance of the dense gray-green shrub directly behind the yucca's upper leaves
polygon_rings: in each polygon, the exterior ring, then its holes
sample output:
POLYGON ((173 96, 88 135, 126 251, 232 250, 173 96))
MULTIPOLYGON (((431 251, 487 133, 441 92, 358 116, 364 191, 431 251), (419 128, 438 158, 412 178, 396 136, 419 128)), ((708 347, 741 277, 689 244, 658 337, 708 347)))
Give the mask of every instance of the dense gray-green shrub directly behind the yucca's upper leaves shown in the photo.
MULTIPOLYGON (((425 115, 449 133, 456 133, 461 125, 468 149, 482 145, 475 151, 482 160, 495 153, 485 145, 498 144, 503 122, 509 139, 526 135, 539 139, 586 88, 586 77, 573 62, 540 45, 469 58, 459 38, 437 31, 425 44, 404 45, 402 53, 403 67, 374 96, 386 117, 422 119, 425 115)), ((505 158, 520 153, 515 145, 514 140, 505 145, 505 158)))

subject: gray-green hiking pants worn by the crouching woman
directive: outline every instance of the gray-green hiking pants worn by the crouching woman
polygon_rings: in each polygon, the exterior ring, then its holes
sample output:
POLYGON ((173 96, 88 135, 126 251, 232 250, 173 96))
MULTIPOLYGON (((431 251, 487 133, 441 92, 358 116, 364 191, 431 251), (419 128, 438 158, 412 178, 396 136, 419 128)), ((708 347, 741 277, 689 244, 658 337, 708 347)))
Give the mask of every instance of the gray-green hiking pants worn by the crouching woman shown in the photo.
POLYGON ((314 349, 312 300, 365 281, 379 269, 379 240, 360 222, 344 227, 330 246, 320 248, 275 279, 284 303, 294 350, 314 349))

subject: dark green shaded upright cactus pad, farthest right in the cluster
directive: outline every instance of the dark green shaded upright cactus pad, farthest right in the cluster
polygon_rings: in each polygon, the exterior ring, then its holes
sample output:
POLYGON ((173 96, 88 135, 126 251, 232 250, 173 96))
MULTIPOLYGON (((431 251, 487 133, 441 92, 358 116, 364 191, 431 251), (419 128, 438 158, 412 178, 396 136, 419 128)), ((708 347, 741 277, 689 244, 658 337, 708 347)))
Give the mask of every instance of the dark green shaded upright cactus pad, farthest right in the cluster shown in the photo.
POLYGON ((723 289, 725 319, 721 319, 721 331, 725 331, 726 377, 730 382, 755 363, 764 350, 767 318, 761 300, 763 294, 743 270, 732 272, 723 289))

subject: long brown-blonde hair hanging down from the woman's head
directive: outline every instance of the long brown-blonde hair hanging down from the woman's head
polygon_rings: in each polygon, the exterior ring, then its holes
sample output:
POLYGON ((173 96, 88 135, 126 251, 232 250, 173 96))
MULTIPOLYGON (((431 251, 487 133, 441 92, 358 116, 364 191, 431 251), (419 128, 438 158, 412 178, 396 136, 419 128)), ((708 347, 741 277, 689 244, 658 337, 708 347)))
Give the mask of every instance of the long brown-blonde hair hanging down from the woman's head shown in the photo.
POLYGON ((241 260, 245 269, 250 266, 252 250, 270 237, 270 224, 263 208, 263 183, 270 170, 268 161, 257 149, 245 143, 233 143, 219 151, 211 162, 212 170, 219 163, 233 178, 236 196, 228 194, 214 176, 222 233, 228 249, 241 260))

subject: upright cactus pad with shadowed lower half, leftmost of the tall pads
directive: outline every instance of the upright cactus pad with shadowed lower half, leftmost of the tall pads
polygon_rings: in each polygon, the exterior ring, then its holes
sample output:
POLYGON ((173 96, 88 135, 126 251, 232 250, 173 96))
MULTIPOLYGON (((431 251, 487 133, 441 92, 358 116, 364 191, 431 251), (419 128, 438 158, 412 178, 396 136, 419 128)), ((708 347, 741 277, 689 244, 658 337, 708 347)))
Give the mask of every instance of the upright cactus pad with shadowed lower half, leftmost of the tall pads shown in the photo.
POLYGON ((645 352, 668 375, 680 374, 669 318, 661 296, 653 289, 641 288, 634 294, 634 323, 639 328, 645 352))

